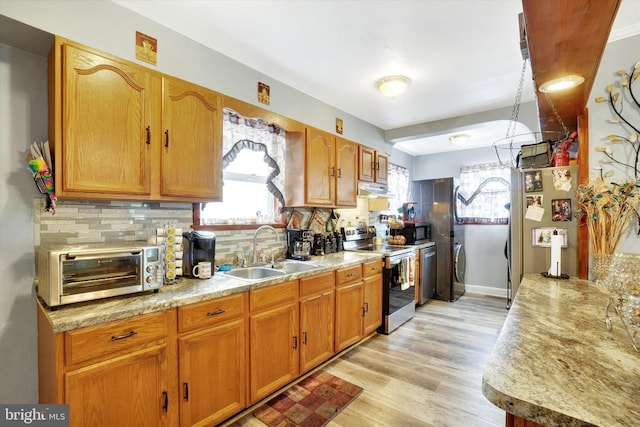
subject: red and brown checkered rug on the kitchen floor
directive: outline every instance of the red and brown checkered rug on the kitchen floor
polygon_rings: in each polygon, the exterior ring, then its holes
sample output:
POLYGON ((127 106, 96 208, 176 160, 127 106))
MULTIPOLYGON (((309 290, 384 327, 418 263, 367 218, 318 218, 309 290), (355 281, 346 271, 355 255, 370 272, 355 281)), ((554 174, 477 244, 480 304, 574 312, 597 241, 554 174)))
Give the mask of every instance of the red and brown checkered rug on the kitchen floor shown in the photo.
POLYGON ((269 427, 321 427, 362 393, 362 387, 317 371, 258 409, 253 416, 269 427))

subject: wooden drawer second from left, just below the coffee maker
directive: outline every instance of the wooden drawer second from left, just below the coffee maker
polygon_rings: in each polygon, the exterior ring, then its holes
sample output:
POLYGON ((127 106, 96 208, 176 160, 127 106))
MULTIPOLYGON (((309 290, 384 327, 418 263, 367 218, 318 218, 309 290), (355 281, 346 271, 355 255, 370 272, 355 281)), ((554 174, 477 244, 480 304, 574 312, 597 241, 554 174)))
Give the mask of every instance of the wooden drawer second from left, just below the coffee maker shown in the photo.
POLYGON ((215 325, 244 313, 244 293, 178 308, 178 332, 215 325))

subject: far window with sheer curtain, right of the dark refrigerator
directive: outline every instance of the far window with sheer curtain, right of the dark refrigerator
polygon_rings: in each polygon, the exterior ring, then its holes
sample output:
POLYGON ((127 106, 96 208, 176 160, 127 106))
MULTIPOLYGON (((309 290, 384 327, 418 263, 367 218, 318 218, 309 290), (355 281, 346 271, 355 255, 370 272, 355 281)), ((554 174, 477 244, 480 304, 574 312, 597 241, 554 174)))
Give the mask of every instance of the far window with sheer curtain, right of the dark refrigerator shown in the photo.
POLYGON ((465 224, 506 224, 511 202, 511 167, 491 163, 462 167, 458 217, 465 224))

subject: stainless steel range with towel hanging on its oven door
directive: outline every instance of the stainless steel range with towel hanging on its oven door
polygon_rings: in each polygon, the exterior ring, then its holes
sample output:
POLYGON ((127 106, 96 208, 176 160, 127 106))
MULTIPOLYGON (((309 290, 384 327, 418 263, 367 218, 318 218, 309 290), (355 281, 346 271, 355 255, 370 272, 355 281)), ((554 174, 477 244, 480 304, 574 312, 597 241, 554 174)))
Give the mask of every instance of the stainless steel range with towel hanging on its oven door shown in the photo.
MULTIPOLYGON (((382 270, 382 326, 378 332, 389 334, 415 314, 415 287, 403 280, 403 269, 415 257, 413 246, 375 245, 375 227, 342 229, 345 251, 378 252, 384 255, 382 270)), ((415 272, 414 272, 415 274, 415 272)))

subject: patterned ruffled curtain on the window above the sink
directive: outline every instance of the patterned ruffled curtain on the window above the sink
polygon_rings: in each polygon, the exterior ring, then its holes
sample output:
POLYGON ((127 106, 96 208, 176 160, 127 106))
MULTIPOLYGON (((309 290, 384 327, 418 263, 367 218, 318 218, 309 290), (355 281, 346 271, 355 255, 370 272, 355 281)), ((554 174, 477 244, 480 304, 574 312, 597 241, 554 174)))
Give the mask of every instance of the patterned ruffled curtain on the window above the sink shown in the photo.
POLYGON ((222 129, 222 168, 233 162, 242 150, 264 153, 263 160, 271 169, 267 189, 280 203, 280 210, 284 209, 281 188, 285 171, 285 130, 262 119, 243 117, 228 108, 224 109, 222 129))

